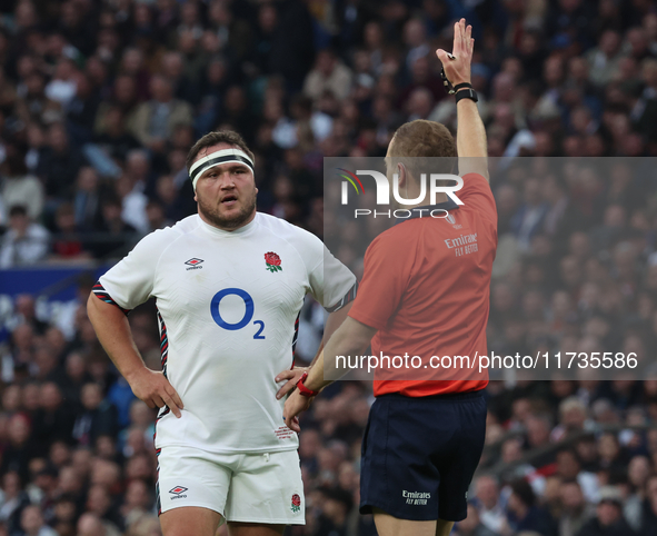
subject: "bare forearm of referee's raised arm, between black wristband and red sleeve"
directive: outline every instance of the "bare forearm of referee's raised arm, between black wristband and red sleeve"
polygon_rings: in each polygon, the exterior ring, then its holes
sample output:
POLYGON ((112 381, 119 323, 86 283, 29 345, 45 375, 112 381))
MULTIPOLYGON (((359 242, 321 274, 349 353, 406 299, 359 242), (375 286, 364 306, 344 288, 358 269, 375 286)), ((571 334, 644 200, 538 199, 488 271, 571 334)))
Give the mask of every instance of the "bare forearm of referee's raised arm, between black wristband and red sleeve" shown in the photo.
POLYGON ((486 129, 479 117, 477 103, 461 99, 457 105, 458 130, 456 148, 458 152, 459 175, 480 173, 488 179, 488 147, 486 129))

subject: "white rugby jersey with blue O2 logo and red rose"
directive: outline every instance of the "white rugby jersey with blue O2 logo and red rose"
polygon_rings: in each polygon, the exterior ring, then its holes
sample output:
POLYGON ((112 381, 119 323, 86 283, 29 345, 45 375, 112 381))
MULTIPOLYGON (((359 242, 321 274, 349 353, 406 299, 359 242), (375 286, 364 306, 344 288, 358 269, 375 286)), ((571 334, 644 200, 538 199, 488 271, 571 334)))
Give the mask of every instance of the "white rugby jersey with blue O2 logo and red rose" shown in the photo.
POLYGON ((258 212, 235 231, 198 215, 157 230, 94 292, 125 311, 156 298, 162 369, 185 406, 180 419, 160 410, 156 448, 259 453, 298 446, 273 378, 292 365, 303 297, 337 310, 356 287, 317 237, 258 212))

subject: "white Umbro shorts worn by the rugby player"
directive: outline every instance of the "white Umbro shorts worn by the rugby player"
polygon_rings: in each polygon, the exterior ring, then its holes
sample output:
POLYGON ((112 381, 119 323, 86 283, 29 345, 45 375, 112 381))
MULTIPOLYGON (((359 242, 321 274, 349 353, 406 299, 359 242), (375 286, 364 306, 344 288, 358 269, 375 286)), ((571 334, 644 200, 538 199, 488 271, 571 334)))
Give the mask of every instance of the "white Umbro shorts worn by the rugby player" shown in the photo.
POLYGON ((297 450, 215 454, 172 446, 160 449, 158 461, 158 514, 200 506, 227 522, 306 524, 297 450))

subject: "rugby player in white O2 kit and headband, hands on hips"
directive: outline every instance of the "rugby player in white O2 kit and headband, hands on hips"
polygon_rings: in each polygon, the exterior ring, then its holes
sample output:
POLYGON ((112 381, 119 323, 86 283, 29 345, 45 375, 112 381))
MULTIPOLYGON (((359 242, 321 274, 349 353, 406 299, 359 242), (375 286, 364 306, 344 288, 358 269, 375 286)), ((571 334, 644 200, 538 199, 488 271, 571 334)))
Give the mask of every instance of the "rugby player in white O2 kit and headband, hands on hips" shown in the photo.
POLYGON ((148 235, 100 277, 89 318, 135 395, 160 408, 163 535, 215 536, 223 519, 236 536, 282 534, 305 523, 305 503, 273 376, 292 365, 305 296, 331 311, 330 332, 356 278, 317 237, 256 211, 253 155, 238 133, 203 136, 188 170, 198 215, 148 235), (150 297, 161 371, 145 366, 127 319, 150 297))

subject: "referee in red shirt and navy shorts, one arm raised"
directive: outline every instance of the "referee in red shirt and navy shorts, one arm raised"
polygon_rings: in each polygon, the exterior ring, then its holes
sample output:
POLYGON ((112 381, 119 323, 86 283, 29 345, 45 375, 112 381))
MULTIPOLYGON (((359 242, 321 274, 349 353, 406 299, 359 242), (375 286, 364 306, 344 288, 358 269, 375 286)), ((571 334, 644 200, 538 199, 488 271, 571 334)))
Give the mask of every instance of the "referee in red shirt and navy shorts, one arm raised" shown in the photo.
MULTIPOLYGON (((456 143, 447 128, 417 120, 401 126, 386 156, 388 172, 399 175, 407 199, 419 199, 418 160, 458 156, 464 186, 457 205, 445 193, 430 206, 449 218, 409 218, 379 235, 365 255, 359 294, 349 317, 317 363, 301 376, 285 405, 288 426, 330 380, 336 356, 408 353, 428 364, 431 356, 485 355, 489 286, 497 247, 497 214, 488 185, 486 132, 470 86, 474 39, 465 19, 455 24, 454 56, 438 50, 446 85, 454 85, 458 110, 456 143), (467 245, 462 245, 467 237, 467 245), (382 290, 385 289, 385 290, 382 290)), ((427 196, 428 197, 428 196, 427 196)), ((421 214, 416 210, 415 214, 421 214)), ((380 536, 447 536, 466 518, 467 490, 484 448, 488 384, 486 373, 464 375, 422 366, 421 378, 390 379, 376 370, 372 405, 362 440, 360 512, 374 513, 380 536), (427 374, 425 374, 427 373, 427 374)), ((417 374, 416 373, 416 374, 417 374)), ((282 397, 293 387, 293 371, 282 397)))

